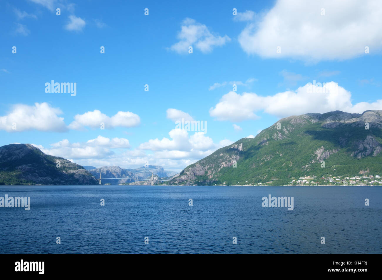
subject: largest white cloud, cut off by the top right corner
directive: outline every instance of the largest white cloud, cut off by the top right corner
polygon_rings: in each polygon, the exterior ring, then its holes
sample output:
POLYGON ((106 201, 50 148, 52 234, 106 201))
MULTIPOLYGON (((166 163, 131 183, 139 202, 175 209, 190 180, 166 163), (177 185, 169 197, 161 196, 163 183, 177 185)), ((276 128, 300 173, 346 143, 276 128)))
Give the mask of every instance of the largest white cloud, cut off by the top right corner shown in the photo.
POLYGON ((246 53, 264 58, 348 59, 365 54, 366 46, 370 53, 381 51, 380 18, 379 0, 278 0, 238 40, 246 53))

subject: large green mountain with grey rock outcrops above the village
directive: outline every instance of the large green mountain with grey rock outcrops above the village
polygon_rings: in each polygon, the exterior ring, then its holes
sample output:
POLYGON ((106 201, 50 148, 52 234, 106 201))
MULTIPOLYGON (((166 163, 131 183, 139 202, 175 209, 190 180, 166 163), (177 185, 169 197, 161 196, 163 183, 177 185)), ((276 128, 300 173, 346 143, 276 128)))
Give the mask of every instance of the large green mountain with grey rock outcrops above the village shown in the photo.
POLYGON ((378 174, 381 143, 382 110, 291 116, 187 166, 170 184, 286 185, 301 176, 378 174))

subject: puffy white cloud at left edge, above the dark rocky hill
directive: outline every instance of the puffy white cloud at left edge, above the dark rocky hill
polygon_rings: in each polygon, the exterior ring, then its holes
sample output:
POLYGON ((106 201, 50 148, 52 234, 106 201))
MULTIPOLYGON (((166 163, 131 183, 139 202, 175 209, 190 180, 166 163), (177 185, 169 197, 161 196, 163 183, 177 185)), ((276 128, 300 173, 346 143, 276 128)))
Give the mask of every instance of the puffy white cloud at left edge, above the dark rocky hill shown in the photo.
POLYGON ((0 130, 20 132, 26 130, 66 131, 62 111, 50 104, 35 103, 34 106, 16 104, 8 115, 0 117, 0 130))

